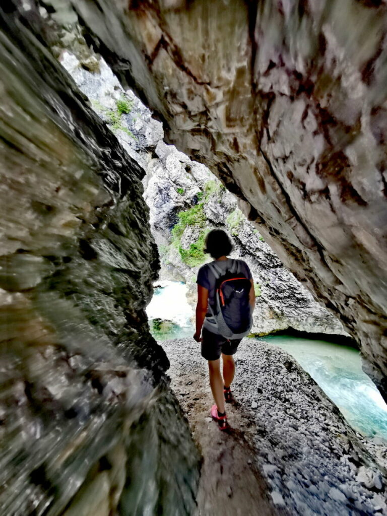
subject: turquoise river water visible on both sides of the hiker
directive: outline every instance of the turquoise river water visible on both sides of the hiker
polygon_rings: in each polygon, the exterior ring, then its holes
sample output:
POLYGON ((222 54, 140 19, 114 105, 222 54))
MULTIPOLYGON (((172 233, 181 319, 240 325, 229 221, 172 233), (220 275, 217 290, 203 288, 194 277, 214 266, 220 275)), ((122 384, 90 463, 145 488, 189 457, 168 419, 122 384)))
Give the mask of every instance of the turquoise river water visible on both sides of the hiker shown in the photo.
MULTIPOLYGON (((163 341, 191 336, 193 310, 186 299, 186 286, 176 282, 162 284, 155 288, 147 310, 154 337, 163 341)), ((352 428, 364 436, 387 440, 387 405, 374 383, 363 373, 358 350, 289 335, 261 337, 260 340, 290 353, 340 409, 352 428)))

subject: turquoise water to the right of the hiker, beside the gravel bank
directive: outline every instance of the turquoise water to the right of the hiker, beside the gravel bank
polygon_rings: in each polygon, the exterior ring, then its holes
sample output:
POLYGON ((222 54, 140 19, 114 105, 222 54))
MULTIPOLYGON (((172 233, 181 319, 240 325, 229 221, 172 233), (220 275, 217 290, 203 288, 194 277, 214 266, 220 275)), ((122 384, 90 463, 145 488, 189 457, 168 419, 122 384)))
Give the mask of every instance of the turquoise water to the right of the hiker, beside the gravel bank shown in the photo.
POLYGON ((290 353, 363 435, 387 440, 387 405, 363 373, 359 351, 348 346, 288 335, 259 340, 290 353))

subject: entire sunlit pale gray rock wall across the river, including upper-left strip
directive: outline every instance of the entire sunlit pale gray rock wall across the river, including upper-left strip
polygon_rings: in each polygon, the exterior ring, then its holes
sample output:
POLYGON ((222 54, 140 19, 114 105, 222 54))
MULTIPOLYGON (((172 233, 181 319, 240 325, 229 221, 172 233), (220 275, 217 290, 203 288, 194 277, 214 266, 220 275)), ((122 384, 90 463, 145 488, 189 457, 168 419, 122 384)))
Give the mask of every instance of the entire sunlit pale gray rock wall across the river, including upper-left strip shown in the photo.
POLYGON ((75 26, 64 31, 55 51, 94 110, 146 170, 142 180, 144 199, 150 208, 151 230, 160 253, 159 280, 183 280, 195 304, 197 271, 209 259, 201 252, 202 245, 197 249, 197 242, 203 231, 223 228, 233 236, 234 255, 243 256, 249 263, 256 281, 253 333, 265 335, 291 328, 343 334, 340 322, 314 301, 246 220, 235 196, 205 166, 163 142, 162 124, 151 118, 150 111, 133 92, 123 90, 104 59, 88 49, 85 40, 82 52, 77 50, 81 41, 82 35, 75 26), (194 215, 190 224, 175 238, 172 230, 179 223, 179 214, 188 217, 190 213, 194 215), (190 251, 191 245, 197 256, 190 251))

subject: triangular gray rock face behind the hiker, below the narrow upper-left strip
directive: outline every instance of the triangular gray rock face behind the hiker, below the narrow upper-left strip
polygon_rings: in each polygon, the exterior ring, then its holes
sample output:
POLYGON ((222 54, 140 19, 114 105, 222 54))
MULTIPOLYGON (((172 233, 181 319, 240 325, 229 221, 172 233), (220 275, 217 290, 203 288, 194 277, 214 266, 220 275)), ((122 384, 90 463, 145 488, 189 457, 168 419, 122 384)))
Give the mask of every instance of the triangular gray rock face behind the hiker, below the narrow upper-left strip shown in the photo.
MULTIPOLYGON (((160 278, 183 279, 189 288, 189 299, 196 303, 195 281, 201 264, 190 266, 184 262, 178 246, 188 250, 198 241, 203 225, 205 229, 222 228, 234 240, 232 256, 248 263, 256 283, 253 333, 265 335, 289 327, 310 333, 345 333, 340 322, 284 268, 240 212, 235 196, 208 169, 163 142, 158 143, 154 154, 158 159, 148 163, 144 198, 150 206, 151 228, 161 251, 160 278), (171 228, 179 220, 177 214, 200 202, 204 224, 198 217, 198 223, 186 225, 179 242, 171 245, 171 228)), ((203 255, 202 263, 208 260, 208 255, 203 255)))

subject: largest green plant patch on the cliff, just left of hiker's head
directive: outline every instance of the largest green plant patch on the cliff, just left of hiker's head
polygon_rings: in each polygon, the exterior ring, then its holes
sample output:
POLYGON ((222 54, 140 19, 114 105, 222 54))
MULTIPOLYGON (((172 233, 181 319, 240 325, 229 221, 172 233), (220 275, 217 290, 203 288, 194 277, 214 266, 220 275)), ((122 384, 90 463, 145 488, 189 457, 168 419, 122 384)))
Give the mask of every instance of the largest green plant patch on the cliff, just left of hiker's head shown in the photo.
POLYGON ((205 260, 205 254, 203 252, 204 239, 206 235, 205 227, 207 219, 204 215, 203 210, 204 203, 201 202, 192 206, 192 208, 186 209, 184 212, 178 214, 179 222, 172 228, 172 245, 179 249, 182 261, 189 267, 196 267, 205 260), (197 226, 200 230, 198 239, 196 242, 190 244, 188 249, 183 249, 180 243, 180 239, 184 233, 187 225, 197 226))

